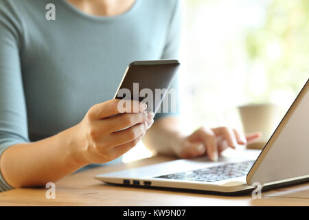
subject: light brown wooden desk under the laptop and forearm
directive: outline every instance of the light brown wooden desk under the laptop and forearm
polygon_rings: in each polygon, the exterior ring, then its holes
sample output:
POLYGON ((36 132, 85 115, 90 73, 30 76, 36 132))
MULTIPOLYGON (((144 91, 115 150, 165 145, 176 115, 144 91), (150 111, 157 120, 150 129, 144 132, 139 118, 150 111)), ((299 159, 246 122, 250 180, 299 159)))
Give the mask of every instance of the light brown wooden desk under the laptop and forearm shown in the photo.
POLYGON ((0 206, 309 206, 309 184, 251 195, 224 197, 190 192, 109 186, 94 175, 172 160, 156 156, 75 173, 56 183, 56 199, 46 199, 46 188, 23 188, 0 193, 0 206))

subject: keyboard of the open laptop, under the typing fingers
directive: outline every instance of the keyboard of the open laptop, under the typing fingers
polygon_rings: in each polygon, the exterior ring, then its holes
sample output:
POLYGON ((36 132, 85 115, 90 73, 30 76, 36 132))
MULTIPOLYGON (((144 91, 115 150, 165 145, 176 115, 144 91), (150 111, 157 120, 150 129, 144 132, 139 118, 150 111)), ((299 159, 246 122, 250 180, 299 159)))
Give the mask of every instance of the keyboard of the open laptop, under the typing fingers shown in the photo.
POLYGON ((201 168, 198 170, 190 170, 181 173, 161 175, 155 178, 181 179, 181 180, 207 181, 207 182, 220 181, 223 179, 231 179, 247 175, 254 162, 255 162, 254 160, 251 160, 246 162, 224 164, 220 166, 211 166, 207 168, 201 168))

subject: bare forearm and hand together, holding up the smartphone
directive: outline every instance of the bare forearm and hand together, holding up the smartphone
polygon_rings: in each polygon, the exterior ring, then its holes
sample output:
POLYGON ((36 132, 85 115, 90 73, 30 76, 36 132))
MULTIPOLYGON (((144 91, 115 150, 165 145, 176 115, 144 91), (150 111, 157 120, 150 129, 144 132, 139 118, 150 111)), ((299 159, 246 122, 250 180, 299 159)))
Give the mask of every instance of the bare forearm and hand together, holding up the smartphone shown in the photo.
POLYGON ((121 102, 95 104, 76 126, 37 142, 10 146, 0 160, 3 178, 14 188, 45 186, 82 166, 126 153, 144 136, 154 115, 144 103, 126 101, 130 108, 123 108, 121 102))

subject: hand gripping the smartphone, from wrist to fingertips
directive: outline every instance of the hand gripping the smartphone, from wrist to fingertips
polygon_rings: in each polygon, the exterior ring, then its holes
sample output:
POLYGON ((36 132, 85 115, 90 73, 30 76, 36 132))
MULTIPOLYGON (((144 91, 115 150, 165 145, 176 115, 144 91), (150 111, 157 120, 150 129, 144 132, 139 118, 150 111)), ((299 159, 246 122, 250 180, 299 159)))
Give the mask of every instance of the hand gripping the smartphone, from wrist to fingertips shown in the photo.
POLYGON ((126 100, 126 105, 131 107, 124 109, 119 109, 119 102, 121 100, 115 99, 95 104, 77 125, 75 135, 78 135, 79 155, 84 163, 99 164, 116 159, 133 148, 152 125, 155 114, 146 111, 144 102, 126 100))

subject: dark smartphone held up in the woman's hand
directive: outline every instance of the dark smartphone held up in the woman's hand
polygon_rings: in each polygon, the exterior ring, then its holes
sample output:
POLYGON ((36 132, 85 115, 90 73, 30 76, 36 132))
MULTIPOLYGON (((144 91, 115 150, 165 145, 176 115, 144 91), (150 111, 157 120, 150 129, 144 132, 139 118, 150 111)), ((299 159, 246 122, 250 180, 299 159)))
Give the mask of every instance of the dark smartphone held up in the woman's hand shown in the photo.
POLYGON ((178 60, 135 61, 130 63, 114 98, 146 102, 147 111, 157 113, 179 66, 178 60))

